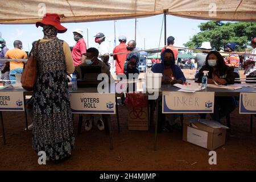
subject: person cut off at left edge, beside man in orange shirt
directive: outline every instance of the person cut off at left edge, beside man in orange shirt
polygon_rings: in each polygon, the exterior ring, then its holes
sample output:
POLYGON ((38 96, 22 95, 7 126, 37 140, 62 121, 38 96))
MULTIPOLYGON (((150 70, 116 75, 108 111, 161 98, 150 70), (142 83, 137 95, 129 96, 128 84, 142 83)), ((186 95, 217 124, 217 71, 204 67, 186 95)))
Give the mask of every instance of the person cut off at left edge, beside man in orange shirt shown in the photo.
MULTIPOLYGON (((0 51, 0 59, 5 59, 5 54, 9 50, 9 48, 7 48, 5 39, 3 39, 3 38, 0 38, 0 50, 1 50, 0 51)), ((10 67, 9 67, 9 65, 6 65, 6 67, 4 67, 4 65, 5 65, 5 61, 0 61, 1 79, 2 80, 10 80, 10 76, 9 76, 10 67)), ((11 84, 10 81, 3 81, 3 86, 10 85, 10 84, 11 84)))

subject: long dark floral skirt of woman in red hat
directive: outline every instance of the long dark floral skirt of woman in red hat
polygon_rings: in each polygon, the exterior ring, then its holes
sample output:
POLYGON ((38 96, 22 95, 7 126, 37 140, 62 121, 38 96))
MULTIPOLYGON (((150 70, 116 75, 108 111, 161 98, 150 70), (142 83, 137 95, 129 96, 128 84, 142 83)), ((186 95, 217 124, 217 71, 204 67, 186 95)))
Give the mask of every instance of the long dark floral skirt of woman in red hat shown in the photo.
POLYGON ((39 73, 34 91, 32 147, 47 160, 71 155, 75 143, 65 71, 39 73))

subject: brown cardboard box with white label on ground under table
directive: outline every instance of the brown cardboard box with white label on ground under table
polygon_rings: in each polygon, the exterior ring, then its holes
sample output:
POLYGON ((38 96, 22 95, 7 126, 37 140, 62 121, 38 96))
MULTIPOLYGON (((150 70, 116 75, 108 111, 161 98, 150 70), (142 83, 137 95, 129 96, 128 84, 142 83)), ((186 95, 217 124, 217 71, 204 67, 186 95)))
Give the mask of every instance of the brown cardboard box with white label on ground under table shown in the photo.
MULTIPOLYGON (((214 121, 210 121, 214 122, 214 121)), ((221 125, 221 124, 220 124, 221 125)), ((183 122, 183 141, 197 146, 215 150, 225 144, 226 129, 210 127, 201 123, 200 119, 190 119, 183 122)))

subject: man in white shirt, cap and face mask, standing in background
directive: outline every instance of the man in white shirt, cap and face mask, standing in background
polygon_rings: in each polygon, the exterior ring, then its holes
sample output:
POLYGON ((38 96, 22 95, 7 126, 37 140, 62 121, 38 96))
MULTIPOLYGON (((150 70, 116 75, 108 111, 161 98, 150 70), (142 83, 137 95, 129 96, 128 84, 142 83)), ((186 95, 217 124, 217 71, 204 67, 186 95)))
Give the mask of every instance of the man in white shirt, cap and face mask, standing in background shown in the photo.
POLYGON ((94 36, 95 38, 95 42, 98 43, 100 46, 98 47, 98 59, 100 59, 101 61, 103 61, 108 67, 110 67, 109 65, 109 45, 108 43, 105 42, 105 35, 101 32, 99 32, 98 34, 96 34, 94 36))

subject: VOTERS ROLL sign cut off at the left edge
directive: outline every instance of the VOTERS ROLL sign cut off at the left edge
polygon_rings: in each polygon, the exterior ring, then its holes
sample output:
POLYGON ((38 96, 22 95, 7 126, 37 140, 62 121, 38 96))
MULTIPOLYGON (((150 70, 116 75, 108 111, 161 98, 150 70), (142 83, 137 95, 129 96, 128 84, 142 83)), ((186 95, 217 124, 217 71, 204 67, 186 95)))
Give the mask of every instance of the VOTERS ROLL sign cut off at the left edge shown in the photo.
POLYGON ((0 92, 0 111, 24 111, 23 92, 0 92))

